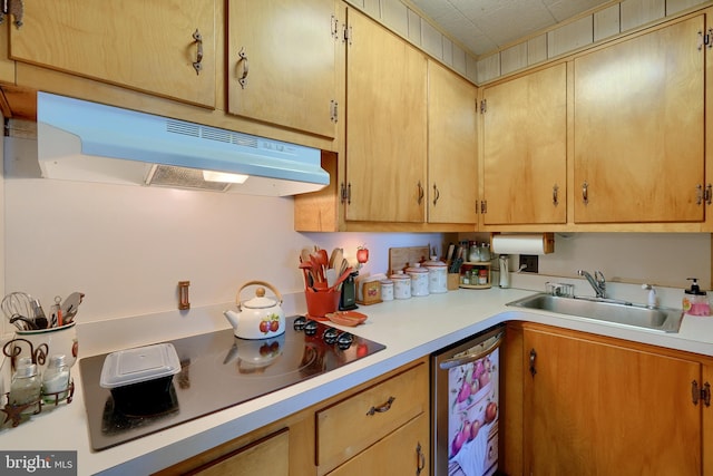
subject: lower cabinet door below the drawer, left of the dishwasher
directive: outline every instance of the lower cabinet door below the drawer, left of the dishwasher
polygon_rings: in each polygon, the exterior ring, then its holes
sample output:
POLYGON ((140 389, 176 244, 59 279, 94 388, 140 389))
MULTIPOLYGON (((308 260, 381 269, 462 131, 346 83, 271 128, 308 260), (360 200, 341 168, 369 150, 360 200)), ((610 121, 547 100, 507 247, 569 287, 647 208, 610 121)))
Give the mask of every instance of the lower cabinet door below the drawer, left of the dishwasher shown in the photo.
POLYGON ((429 445, 428 416, 422 414, 329 473, 329 475, 428 475, 430 465, 428 457, 429 445))

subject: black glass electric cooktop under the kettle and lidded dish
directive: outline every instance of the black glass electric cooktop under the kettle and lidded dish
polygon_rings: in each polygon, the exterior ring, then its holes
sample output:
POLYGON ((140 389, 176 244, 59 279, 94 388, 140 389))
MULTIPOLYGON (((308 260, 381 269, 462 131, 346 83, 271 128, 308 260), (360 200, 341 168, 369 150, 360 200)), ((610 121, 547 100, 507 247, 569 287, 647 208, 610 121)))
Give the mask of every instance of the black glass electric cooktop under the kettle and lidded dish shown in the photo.
POLYGON ((158 396, 117 408, 99 386, 107 354, 79 360, 91 447, 106 449, 228 408, 371 356, 385 347, 324 322, 292 317, 284 334, 245 340, 233 330, 170 341, 180 372, 158 396))

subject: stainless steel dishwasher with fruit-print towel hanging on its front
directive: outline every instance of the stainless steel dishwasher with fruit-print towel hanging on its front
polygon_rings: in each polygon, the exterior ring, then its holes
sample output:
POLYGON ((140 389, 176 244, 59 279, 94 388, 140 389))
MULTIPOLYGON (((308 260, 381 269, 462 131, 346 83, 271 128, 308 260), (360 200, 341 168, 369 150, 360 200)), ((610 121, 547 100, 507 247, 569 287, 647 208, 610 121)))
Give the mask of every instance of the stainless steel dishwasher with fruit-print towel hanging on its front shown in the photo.
POLYGON ((434 476, 498 470, 500 343, 505 327, 431 356, 431 455, 434 476))

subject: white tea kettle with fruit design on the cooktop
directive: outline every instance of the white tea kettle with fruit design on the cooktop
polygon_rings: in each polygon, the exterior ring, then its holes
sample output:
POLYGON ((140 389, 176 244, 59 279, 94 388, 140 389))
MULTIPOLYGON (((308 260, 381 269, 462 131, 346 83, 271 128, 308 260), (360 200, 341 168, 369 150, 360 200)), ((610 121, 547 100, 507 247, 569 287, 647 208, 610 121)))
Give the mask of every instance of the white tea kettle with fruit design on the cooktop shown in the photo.
POLYGON ((270 283, 264 281, 248 281, 237 290, 235 297, 237 312, 225 311, 225 318, 233 326, 233 333, 241 339, 267 339, 285 332, 285 313, 282 310, 282 295, 270 283), (251 285, 257 285, 255 297, 241 302, 241 291, 251 285), (263 288, 264 286, 264 288, 263 288), (265 288, 275 298, 265 297, 265 288))

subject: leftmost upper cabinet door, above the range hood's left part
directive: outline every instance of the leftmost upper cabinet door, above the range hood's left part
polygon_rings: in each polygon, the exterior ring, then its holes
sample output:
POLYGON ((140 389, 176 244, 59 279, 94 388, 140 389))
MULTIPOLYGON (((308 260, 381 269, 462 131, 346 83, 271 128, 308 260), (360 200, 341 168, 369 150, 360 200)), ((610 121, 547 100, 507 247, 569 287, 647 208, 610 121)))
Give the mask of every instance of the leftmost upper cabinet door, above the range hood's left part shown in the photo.
POLYGON ((215 107, 214 21, 214 0, 29 1, 10 57, 215 107))

